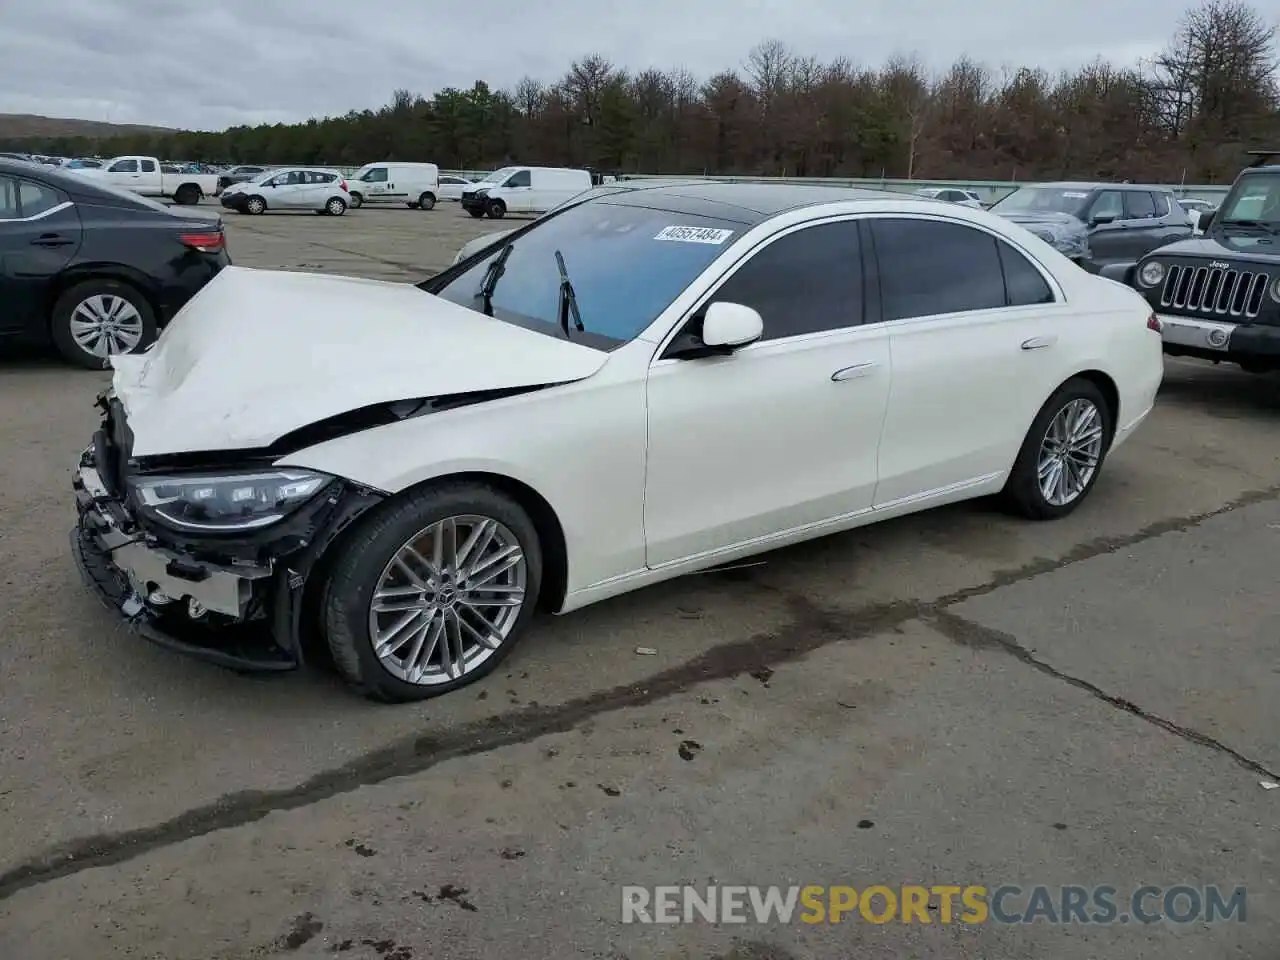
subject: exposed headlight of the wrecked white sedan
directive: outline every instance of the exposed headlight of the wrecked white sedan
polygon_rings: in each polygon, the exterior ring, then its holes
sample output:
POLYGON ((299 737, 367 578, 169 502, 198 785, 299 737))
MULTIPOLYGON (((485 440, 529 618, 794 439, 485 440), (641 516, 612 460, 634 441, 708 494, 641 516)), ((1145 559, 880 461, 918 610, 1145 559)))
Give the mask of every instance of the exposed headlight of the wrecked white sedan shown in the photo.
POLYGON ((132 481, 134 502, 178 530, 218 534, 257 530, 283 520, 333 481, 310 470, 143 476, 132 481))

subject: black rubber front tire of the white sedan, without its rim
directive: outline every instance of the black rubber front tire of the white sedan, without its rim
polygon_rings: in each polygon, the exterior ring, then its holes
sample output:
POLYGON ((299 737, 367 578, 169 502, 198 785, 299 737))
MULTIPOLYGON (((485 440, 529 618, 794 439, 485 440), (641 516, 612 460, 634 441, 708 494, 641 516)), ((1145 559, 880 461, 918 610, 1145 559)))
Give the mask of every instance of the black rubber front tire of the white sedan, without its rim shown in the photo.
POLYGON ((529 515, 504 493, 477 483, 442 483, 381 504, 343 539, 320 596, 320 622, 334 666, 360 694, 383 703, 440 696, 489 673, 511 653, 534 616, 543 558, 529 515), (410 684, 378 659, 369 630, 369 604, 383 568, 417 531, 452 516, 476 515, 504 525, 525 554, 525 603, 502 645, 484 663, 442 684, 410 684))

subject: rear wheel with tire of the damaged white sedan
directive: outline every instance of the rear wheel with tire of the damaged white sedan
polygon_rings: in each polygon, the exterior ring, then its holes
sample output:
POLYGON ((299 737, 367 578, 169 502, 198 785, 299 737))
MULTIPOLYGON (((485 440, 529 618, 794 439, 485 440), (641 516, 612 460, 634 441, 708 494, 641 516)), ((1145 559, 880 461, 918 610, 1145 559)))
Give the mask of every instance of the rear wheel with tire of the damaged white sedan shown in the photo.
POLYGON ((1102 390, 1073 378, 1041 407, 1005 484, 1009 507, 1029 520, 1057 520, 1089 495, 1114 431, 1102 390))

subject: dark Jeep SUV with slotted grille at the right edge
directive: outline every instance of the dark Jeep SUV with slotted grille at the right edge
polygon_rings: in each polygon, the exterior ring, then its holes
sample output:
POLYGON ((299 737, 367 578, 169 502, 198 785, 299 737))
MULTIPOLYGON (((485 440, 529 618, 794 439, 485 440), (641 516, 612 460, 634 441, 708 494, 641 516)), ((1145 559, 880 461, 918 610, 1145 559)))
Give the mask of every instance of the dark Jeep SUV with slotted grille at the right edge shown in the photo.
POLYGON ((1160 319, 1165 353, 1266 372, 1280 369, 1280 151, 1251 155, 1201 216, 1204 236, 1153 251, 1129 279, 1160 319))

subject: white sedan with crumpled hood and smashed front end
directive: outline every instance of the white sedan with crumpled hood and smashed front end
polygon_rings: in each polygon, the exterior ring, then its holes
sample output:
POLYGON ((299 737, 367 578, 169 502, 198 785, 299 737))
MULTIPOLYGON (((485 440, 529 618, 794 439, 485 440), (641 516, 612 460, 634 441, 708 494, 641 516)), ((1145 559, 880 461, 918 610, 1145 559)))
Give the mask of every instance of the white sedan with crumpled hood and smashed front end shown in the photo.
POLYGON ((151 640, 381 700, 536 608, 966 498, 1061 517, 1152 408, 1158 323, 1021 227, 686 183, 421 284, 230 268, 115 357, 73 552, 151 640))

